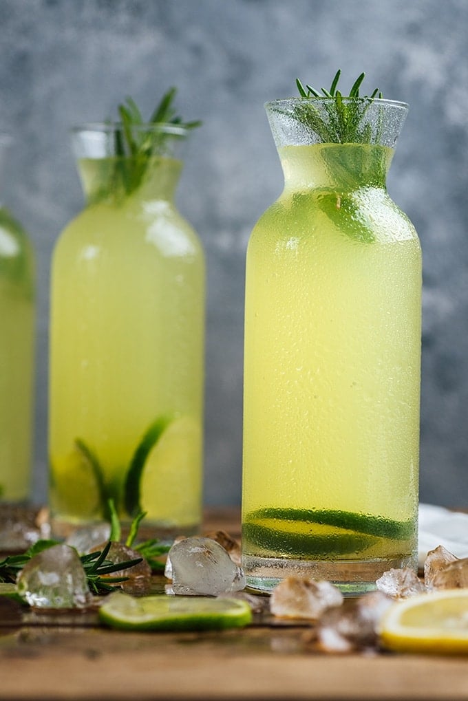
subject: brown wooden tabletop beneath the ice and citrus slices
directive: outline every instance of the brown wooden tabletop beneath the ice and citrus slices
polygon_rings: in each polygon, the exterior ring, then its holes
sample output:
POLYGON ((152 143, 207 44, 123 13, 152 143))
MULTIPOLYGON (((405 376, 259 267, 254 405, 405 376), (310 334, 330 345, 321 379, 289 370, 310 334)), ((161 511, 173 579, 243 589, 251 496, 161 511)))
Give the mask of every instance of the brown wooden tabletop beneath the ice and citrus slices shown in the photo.
MULTIPOLYGON (((210 510, 204 530, 239 535, 237 510, 210 510)), ((468 699, 468 657, 332 655, 309 626, 258 615, 241 630, 116 632, 95 613, 7 615, 0 609, 0 698, 16 700, 468 699)))

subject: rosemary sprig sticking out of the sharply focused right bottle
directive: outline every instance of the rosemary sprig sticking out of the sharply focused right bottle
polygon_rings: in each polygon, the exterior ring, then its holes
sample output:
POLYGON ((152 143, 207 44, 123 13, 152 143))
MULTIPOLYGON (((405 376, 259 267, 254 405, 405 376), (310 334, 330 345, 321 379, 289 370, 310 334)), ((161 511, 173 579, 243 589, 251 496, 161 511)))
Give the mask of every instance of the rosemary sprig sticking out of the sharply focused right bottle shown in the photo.
POLYGON ((349 95, 342 95, 337 89, 341 69, 338 69, 330 90, 321 92, 308 84, 303 86, 296 79, 300 97, 308 102, 295 106, 298 121, 309 128, 324 144, 369 144, 372 140, 372 127, 364 121, 370 104, 382 99, 382 93, 375 88, 371 95, 359 95, 365 73, 361 73, 353 83, 349 95), (320 101, 319 103, 317 101, 320 101))

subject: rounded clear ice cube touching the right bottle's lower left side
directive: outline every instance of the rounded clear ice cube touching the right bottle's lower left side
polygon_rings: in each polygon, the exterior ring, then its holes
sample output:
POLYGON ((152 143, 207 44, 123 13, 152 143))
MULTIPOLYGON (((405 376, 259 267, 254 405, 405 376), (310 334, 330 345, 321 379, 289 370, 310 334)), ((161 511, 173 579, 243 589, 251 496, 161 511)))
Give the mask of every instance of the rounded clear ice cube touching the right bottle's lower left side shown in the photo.
POLYGON ((174 594, 218 596, 246 586, 239 566, 211 538, 185 538, 168 552, 174 594))

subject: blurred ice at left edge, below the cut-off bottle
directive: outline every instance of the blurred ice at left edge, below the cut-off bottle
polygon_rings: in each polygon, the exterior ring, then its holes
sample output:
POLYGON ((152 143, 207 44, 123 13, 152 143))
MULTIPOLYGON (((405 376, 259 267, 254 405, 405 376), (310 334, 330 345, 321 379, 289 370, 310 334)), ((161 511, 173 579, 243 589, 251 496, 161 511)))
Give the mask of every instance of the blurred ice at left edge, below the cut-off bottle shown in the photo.
POLYGON ((23 552, 50 535, 46 508, 0 505, 0 552, 23 552))

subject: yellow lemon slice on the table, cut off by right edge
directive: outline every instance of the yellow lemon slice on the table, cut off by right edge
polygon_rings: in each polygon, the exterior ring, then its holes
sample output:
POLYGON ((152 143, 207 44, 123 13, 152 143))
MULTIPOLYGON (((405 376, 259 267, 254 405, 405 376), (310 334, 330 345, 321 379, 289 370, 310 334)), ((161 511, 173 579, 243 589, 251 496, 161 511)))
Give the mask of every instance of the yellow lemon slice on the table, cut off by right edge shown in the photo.
POLYGON ((399 652, 468 653, 468 589, 416 594, 385 612, 382 645, 399 652))

